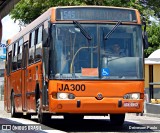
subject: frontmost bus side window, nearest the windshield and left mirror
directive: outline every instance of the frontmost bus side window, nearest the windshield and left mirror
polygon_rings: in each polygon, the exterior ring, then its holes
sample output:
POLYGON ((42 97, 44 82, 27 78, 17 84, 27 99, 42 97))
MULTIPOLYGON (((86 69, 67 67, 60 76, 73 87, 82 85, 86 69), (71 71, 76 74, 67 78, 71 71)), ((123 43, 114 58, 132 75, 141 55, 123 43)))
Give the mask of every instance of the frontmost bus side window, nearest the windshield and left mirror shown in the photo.
POLYGON ((35 61, 42 59, 42 26, 36 30, 36 50, 35 50, 35 61))

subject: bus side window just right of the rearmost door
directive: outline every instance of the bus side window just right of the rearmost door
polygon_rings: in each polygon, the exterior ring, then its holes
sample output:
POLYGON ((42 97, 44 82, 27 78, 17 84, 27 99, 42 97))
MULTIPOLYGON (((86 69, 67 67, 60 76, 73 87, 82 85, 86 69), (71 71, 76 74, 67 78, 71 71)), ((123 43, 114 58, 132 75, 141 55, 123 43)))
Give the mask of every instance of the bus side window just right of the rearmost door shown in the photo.
POLYGON ((18 42, 13 44, 12 71, 17 70, 17 46, 18 42))

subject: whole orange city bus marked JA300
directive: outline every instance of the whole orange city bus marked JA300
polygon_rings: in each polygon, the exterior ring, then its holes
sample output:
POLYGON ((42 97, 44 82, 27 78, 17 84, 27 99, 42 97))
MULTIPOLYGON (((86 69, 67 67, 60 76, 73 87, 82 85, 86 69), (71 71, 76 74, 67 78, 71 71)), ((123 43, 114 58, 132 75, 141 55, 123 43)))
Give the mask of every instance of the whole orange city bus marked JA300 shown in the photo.
POLYGON ((143 40, 136 9, 50 8, 8 40, 5 110, 40 123, 110 115, 122 125, 125 113, 143 112, 143 40))

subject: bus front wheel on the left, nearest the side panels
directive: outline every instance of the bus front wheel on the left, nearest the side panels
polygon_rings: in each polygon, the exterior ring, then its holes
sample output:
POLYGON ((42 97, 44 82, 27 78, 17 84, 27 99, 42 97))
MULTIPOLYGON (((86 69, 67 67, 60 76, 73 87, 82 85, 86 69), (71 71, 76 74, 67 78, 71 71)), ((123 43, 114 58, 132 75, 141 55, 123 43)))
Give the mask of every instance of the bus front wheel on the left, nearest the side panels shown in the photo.
POLYGON ((51 119, 51 115, 48 114, 48 113, 43 113, 42 110, 41 110, 41 100, 40 98, 37 99, 37 114, 38 114, 38 122, 39 123, 46 123, 48 122, 50 119, 51 119))

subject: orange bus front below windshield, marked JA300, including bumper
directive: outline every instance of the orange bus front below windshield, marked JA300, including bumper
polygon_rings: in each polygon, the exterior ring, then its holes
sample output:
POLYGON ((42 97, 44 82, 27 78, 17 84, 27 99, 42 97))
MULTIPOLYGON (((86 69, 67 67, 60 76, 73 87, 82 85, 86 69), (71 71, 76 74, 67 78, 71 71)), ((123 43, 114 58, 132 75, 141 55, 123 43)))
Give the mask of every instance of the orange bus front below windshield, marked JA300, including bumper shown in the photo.
POLYGON ((143 112, 144 99, 124 99, 128 93, 144 95, 144 81, 50 81, 49 111, 85 114, 143 112), (72 93, 75 99, 57 100, 57 92, 72 93), (99 95, 102 95, 100 100, 99 95))

